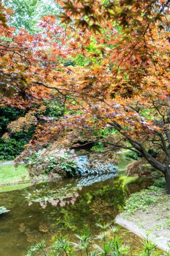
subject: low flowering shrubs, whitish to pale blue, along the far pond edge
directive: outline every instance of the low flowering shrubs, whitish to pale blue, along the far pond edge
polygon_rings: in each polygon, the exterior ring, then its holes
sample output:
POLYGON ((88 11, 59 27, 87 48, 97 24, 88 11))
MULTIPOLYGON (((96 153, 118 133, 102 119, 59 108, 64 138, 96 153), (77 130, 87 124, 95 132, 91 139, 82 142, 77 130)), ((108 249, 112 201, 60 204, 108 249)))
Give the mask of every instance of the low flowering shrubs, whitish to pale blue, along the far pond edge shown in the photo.
POLYGON ((87 156, 77 156, 74 150, 55 149, 39 150, 28 158, 28 166, 32 174, 57 172, 65 176, 77 174, 103 174, 116 172, 118 168, 112 163, 91 162, 87 156))

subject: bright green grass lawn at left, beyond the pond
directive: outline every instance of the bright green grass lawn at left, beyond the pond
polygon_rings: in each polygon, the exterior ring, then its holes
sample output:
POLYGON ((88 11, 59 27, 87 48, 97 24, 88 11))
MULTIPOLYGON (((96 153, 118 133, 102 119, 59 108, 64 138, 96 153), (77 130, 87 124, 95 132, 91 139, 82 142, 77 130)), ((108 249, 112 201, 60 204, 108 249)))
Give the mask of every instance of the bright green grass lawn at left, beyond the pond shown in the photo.
POLYGON ((0 185, 29 181, 28 168, 24 164, 14 167, 13 164, 0 165, 0 185))

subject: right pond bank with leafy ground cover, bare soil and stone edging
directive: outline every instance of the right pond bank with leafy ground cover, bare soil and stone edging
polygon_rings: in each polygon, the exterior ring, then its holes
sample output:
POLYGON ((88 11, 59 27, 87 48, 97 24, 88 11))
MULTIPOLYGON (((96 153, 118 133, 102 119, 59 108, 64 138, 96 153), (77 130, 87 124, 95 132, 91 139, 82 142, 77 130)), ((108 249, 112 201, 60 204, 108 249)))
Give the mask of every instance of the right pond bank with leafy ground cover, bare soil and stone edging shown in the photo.
POLYGON ((160 249, 170 252, 170 196, 163 189, 151 187, 134 193, 126 202, 125 211, 116 217, 116 223, 130 232, 149 238, 160 249))

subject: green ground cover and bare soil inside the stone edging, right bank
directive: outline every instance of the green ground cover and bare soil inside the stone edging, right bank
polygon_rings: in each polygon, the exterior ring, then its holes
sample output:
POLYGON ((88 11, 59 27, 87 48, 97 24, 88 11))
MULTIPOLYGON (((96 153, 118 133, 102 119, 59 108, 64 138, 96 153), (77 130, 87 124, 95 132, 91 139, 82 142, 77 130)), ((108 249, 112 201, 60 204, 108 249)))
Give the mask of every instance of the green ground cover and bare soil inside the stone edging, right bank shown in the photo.
POLYGON ((120 216, 170 240, 170 197, 156 186, 132 194, 120 216))

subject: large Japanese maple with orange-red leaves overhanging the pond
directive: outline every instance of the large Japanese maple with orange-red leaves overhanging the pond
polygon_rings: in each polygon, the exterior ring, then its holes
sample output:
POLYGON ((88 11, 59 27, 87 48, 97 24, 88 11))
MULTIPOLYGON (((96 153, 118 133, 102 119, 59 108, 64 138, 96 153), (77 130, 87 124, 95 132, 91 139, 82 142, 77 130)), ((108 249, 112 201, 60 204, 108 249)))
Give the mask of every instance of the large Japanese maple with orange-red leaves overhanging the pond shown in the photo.
MULTIPOLYGON (((3 104, 22 106, 23 100, 31 104, 34 99, 42 104, 42 98, 60 97, 65 105, 65 115, 57 121, 37 123, 23 156, 53 141, 65 147, 101 141, 105 152, 128 148, 146 158, 165 174, 170 193, 170 1, 57 3, 63 25, 51 15, 42 19, 44 32, 39 34, 1 30, 10 38, 0 44, 3 104), (63 65, 63 59, 74 58, 77 63, 63 65), (96 135, 107 127, 118 133, 96 135), (149 148, 166 159, 157 160, 149 148)), ((29 115, 9 128, 36 123, 29 115)))

